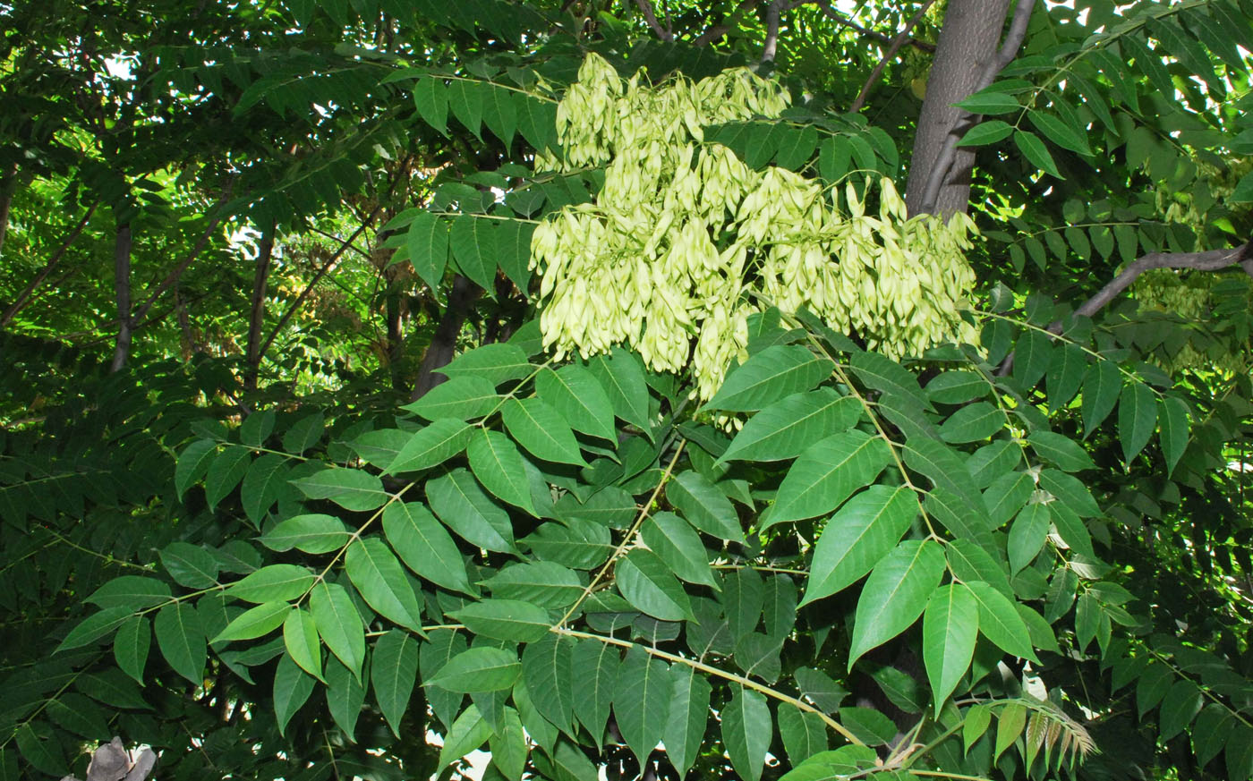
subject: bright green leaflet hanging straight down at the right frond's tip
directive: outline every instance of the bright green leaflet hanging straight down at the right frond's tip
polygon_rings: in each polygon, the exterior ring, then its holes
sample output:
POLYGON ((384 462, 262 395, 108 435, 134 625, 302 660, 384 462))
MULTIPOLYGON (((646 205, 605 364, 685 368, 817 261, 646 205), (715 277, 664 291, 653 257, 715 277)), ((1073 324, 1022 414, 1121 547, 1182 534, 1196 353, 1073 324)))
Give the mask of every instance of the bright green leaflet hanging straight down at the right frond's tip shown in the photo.
POLYGON ((938 718, 940 708, 970 668, 979 638, 979 602, 962 583, 942 586, 922 616, 922 661, 938 718))

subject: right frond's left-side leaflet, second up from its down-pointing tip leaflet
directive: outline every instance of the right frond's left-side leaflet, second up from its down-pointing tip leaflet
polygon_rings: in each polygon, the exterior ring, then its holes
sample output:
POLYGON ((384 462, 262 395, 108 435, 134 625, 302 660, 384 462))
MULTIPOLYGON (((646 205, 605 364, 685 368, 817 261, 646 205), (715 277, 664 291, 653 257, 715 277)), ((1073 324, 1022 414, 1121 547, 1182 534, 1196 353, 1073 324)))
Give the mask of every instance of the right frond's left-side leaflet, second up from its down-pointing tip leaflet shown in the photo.
POLYGON ((809 584, 801 605, 853 584, 896 547, 918 514, 907 486, 871 486, 827 521, 813 549, 809 584))

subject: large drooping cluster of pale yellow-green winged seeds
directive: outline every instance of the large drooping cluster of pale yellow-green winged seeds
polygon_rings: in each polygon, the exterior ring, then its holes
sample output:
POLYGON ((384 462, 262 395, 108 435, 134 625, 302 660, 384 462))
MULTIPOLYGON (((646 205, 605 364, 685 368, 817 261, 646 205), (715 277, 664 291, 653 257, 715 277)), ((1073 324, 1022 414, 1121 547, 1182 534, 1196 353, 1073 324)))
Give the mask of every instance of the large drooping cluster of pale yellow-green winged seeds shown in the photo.
POLYGON ((906 219, 887 179, 877 215, 851 185, 845 214, 818 183, 752 170, 704 140, 708 125, 778 118, 787 105, 777 81, 748 69, 649 86, 588 55, 558 106, 563 156, 536 166, 604 165, 605 181, 595 203, 535 230, 545 344, 559 355, 629 344, 653 369, 690 365, 708 399, 744 358, 748 315, 768 305, 807 308, 893 358, 969 337, 959 314, 975 282, 969 217, 906 219))

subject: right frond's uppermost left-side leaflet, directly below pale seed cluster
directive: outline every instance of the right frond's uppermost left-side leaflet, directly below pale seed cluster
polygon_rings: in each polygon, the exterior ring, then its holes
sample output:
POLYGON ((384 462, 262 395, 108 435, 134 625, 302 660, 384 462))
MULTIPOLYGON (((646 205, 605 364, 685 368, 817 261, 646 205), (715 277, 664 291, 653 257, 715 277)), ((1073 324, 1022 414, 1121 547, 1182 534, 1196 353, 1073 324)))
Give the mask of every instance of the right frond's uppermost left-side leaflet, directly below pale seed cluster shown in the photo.
POLYGON ((727 374, 705 409, 753 412, 809 390, 831 374, 831 360, 799 344, 774 344, 727 374))

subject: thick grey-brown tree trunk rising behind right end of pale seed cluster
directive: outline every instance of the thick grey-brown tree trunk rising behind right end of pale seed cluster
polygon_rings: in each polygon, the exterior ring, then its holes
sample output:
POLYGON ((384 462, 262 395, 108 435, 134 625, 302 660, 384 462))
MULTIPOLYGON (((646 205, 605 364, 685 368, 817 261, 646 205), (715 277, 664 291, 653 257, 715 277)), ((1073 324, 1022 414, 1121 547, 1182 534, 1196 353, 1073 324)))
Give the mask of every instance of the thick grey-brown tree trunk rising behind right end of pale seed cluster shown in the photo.
MULTIPOLYGON (((954 103, 975 91, 989 61, 996 56, 996 44, 1005 28, 1009 0, 950 0, 945 11, 935 61, 927 78, 927 95, 918 115, 913 139, 913 158, 905 202, 911 214, 923 209, 923 191, 931 169, 944 149, 945 139, 962 116, 954 103)), ((932 212, 950 217, 965 212, 970 202, 970 173, 975 153, 959 149, 949 179, 940 189, 932 212)))

